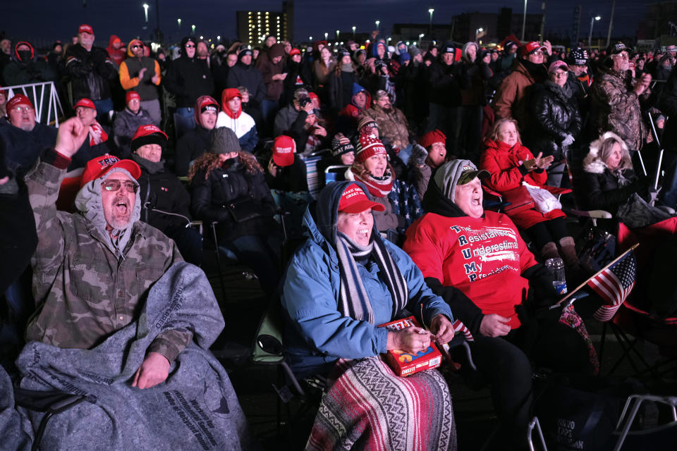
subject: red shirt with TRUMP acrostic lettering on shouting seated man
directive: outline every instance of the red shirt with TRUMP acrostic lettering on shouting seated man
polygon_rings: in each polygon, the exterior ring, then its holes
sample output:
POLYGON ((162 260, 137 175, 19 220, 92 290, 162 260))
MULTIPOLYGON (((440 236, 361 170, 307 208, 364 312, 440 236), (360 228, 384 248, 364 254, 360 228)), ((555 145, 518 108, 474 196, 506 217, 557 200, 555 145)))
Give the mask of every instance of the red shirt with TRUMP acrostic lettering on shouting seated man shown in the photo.
POLYGON ((458 288, 482 313, 520 321, 515 306, 529 280, 521 274, 537 261, 508 216, 484 211, 482 218, 427 213, 407 229, 403 249, 424 278, 458 288))

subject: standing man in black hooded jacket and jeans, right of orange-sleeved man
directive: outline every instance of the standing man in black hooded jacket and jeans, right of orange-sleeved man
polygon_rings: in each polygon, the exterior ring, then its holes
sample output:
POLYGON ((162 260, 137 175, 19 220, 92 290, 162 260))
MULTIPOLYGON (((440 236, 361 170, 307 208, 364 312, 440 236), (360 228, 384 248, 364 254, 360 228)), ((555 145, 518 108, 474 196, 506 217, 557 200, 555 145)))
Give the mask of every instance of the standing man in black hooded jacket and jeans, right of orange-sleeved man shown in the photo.
POLYGON ((193 106, 200 96, 212 94, 214 78, 207 61, 195 57, 197 39, 184 37, 181 40, 181 57, 173 60, 164 77, 164 87, 176 96, 174 127, 176 137, 181 138, 195 128, 193 106))

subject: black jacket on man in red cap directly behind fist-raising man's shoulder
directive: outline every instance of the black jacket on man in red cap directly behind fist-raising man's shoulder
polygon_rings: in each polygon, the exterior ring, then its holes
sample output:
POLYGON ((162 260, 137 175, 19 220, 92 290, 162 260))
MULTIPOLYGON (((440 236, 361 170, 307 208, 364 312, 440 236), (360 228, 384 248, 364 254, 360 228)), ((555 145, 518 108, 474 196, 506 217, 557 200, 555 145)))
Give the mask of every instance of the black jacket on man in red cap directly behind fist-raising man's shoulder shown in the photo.
POLYGON ((141 168, 141 176, 138 178, 141 221, 168 236, 173 235, 175 230, 184 228, 190 221, 190 194, 183 183, 166 169, 153 168, 152 164, 147 164, 147 160, 137 154, 133 154, 132 159, 141 168), (170 214, 162 213, 163 211, 170 214))

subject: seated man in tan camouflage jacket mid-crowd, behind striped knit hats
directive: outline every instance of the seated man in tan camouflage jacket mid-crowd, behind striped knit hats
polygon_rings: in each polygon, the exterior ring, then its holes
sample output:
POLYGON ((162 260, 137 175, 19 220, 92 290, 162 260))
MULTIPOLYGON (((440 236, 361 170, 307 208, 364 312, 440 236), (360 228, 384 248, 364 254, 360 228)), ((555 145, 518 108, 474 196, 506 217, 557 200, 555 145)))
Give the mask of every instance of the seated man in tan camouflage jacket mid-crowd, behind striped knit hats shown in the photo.
POLYGON ((367 114, 379 125, 379 137, 393 147, 397 156, 406 164, 411 154, 409 142, 409 125, 404 113, 392 106, 390 97, 383 89, 379 89, 374 97, 374 104, 367 114))

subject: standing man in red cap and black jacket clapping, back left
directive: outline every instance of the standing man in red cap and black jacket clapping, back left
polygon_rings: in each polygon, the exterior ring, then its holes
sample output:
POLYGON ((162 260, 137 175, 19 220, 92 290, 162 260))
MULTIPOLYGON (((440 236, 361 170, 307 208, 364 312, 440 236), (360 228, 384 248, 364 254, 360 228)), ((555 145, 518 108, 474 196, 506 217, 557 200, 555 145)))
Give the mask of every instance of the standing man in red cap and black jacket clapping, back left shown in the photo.
POLYGON ((92 99, 99 118, 113 110, 111 81, 118 76, 118 68, 106 49, 94 47, 90 25, 78 27, 78 44, 66 51, 66 69, 72 78, 73 99, 92 99))

